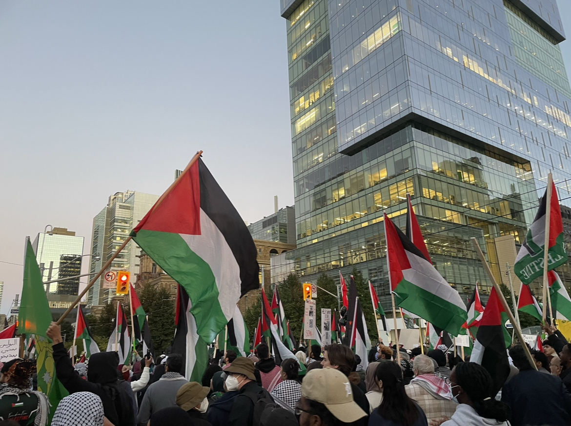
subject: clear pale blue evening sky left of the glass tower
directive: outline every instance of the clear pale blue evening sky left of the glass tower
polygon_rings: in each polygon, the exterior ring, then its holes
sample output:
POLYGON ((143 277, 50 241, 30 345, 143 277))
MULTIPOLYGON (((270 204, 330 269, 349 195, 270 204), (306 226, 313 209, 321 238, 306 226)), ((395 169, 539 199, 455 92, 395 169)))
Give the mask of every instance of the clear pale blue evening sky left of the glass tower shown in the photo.
POLYGON ((244 220, 293 203, 278 0, 2 0, 0 93, 3 313, 26 235, 67 227, 90 252, 109 195, 161 194, 199 149, 244 220))

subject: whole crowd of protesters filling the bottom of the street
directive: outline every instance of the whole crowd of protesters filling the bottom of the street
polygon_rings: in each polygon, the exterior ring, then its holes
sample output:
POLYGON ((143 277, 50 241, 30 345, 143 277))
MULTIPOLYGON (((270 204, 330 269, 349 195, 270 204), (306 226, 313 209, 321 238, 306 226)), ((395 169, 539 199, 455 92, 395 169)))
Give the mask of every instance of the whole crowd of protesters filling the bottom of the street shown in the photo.
POLYGON ((10 360, 0 369, 0 426, 45 426, 54 410, 54 426, 568 426, 571 346, 545 330, 543 351, 531 351, 535 366, 524 347, 510 347, 510 375, 494 393, 484 367, 445 345, 380 343, 367 363, 342 344, 311 345, 278 365, 262 343, 248 357, 213 356, 198 383, 180 374, 177 353, 132 369, 116 352, 73 365, 52 323, 55 372, 70 395, 50 407, 34 390, 34 361, 10 360))

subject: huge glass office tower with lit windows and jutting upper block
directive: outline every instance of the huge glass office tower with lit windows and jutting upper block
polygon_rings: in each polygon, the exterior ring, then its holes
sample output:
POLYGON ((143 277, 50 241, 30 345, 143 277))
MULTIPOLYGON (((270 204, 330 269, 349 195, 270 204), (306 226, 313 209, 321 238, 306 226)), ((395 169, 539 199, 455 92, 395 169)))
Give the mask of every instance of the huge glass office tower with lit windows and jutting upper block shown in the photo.
POLYGON ((356 267, 387 303, 383 213, 404 227, 409 193, 461 296, 490 285, 472 236, 505 281, 496 238, 524 241, 549 171, 571 197, 556 0, 280 3, 297 228, 280 264, 307 280, 356 267))

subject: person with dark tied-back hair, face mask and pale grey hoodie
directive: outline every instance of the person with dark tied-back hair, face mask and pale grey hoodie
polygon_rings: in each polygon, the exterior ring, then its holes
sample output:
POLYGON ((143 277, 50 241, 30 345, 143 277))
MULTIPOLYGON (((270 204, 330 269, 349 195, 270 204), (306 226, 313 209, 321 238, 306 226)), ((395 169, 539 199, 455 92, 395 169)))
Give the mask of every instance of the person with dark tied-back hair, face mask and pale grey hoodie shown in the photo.
POLYGON ((509 407, 494 399, 492 377, 484 367, 459 363, 452 370, 450 381, 459 405, 442 426, 509 426, 509 407))

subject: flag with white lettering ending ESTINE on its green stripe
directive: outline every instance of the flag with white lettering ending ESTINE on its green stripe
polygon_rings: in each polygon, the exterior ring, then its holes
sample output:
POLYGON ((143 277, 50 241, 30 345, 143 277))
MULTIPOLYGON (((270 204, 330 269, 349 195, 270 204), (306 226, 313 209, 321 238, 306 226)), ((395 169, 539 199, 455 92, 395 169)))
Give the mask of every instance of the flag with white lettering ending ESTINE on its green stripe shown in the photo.
MULTIPOLYGON (((559 207, 555 184, 553 182, 551 184, 548 271, 567 262, 567 253, 563 245, 561 208, 559 207)), ((525 242, 521 245, 513 267, 514 272, 524 284, 529 284, 543 275, 546 204, 547 190, 545 190, 545 194, 540 200, 537 215, 533 219, 532 226, 529 227, 528 234, 525 236, 525 242)))

